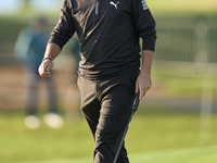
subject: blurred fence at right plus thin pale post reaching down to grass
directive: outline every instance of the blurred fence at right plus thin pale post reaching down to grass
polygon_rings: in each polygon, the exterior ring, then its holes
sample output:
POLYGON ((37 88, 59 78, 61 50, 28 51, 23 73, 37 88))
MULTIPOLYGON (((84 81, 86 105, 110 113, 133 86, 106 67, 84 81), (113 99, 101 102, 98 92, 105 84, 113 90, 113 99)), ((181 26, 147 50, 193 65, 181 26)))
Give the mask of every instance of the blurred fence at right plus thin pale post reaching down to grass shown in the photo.
POLYGON ((157 20, 157 46, 154 68, 173 70, 174 75, 200 75, 201 121, 199 142, 210 137, 214 108, 214 78, 217 71, 217 17, 157 20))

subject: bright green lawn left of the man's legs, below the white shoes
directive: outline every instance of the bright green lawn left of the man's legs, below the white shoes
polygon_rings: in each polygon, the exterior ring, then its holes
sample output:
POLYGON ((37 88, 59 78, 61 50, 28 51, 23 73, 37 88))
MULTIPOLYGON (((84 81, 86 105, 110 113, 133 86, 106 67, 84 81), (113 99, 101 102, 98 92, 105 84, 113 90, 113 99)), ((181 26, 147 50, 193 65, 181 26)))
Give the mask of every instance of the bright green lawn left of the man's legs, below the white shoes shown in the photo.
POLYGON ((38 161, 90 155, 84 150, 92 146, 92 138, 85 121, 79 124, 66 123, 61 129, 51 129, 42 125, 29 130, 24 126, 21 114, 1 114, 0 152, 5 163, 38 161), (80 143, 81 142, 81 143, 80 143))

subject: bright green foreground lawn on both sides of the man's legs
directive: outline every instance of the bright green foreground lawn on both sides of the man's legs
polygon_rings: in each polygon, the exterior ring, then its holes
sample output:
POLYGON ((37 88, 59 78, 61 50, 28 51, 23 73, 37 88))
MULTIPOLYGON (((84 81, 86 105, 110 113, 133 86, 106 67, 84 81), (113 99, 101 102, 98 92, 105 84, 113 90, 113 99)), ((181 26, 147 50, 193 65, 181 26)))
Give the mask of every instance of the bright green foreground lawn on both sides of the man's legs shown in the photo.
MULTIPOLYGON (((180 113, 171 108, 141 103, 126 137, 131 162, 213 163, 217 152, 216 117, 212 118, 210 138, 201 145, 199 113, 180 113)), ((1 162, 91 162, 94 143, 84 118, 77 124, 66 121, 60 129, 42 124, 36 130, 27 129, 23 118, 22 113, 0 113, 1 162)))

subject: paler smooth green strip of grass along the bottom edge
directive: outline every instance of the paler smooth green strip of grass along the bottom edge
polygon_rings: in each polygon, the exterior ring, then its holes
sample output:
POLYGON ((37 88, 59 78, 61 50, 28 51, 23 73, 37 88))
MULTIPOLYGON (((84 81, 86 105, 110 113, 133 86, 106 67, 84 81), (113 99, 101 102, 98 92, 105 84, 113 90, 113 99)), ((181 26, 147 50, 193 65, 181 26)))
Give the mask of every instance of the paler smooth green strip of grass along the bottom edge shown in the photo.
MULTIPOLYGON (((133 163, 216 163, 217 146, 129 154, 133 163)), ((30 163, 88 163, 91 158, 30 163)))

